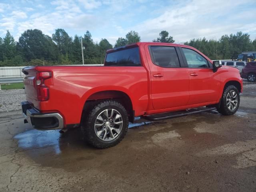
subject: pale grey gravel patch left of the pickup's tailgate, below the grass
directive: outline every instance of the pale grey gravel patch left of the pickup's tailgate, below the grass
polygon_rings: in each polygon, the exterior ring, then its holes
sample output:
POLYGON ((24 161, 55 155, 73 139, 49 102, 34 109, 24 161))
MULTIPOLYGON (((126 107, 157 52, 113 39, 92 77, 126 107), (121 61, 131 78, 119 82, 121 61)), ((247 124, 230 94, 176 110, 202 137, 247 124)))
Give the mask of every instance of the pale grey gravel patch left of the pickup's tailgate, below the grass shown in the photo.
POLYGON ((20 102, 25 100, 24 89, 0 90, 0 112, 20 110, 20 102))

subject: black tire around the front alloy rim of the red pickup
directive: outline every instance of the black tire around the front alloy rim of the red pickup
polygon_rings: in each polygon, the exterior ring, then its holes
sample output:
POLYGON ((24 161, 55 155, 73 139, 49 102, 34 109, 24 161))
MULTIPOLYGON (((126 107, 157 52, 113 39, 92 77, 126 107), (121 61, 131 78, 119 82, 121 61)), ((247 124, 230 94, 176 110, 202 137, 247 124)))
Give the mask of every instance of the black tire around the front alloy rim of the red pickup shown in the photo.
POLYGON ((239 104, 240 104, 240 95, 239 95, 239 91, 236 88, 236 86, 234 86, 234 85, 226 86, 224 88, 222 98, 220 101, 220 105, 219 105, 219 107, 217 107, 217 110, 222 115, 233 115, 238 110, 239 104), (230 110, 230 108, 228 108, 228 105, 227 105, 227 96, 230 93, 230 91, 234 91, 237 94, 237 105, 236 105, 236 108, 234 108, 233 110, 230 110))

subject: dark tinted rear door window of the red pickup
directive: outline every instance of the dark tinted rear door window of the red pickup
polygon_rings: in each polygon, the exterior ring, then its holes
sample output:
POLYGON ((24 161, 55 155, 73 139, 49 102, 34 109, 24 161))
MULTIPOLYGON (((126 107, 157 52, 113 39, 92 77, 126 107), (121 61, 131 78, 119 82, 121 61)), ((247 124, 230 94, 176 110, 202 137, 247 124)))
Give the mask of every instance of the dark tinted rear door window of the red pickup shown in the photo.
POLYGON ((152 62, 157 66, 165 68, 180 67, 178 55, 174 47, 150 46, 150 56, 152 62))

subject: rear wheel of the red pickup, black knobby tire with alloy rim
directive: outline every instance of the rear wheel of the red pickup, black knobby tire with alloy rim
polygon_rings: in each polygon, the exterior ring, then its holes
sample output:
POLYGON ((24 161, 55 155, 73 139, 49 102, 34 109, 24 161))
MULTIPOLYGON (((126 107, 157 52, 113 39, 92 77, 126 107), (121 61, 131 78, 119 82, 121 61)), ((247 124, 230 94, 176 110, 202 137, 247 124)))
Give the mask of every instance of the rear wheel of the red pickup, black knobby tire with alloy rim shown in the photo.
POLYGON ((107 100, 94 106, 81 126, 84 139, 96 148, 118 144, 128 130, 128 114, 122 104, 107 100))

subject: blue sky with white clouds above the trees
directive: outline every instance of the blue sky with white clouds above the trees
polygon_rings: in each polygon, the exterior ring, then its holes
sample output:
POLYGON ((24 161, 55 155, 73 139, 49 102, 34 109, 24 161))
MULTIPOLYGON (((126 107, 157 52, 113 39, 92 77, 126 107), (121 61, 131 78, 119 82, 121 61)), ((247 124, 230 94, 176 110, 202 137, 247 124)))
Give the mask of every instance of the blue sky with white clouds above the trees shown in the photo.
POLYGON ((0 0, 0 37, 6 30, 18 41, 27 29, 52 36, 63 28, 70 36, 90 31, 95 42, 135 30, 142 42, 162 30, 176 43, 192 38, 219 39, 242 31, 256 38, 256 0, 0 0))

